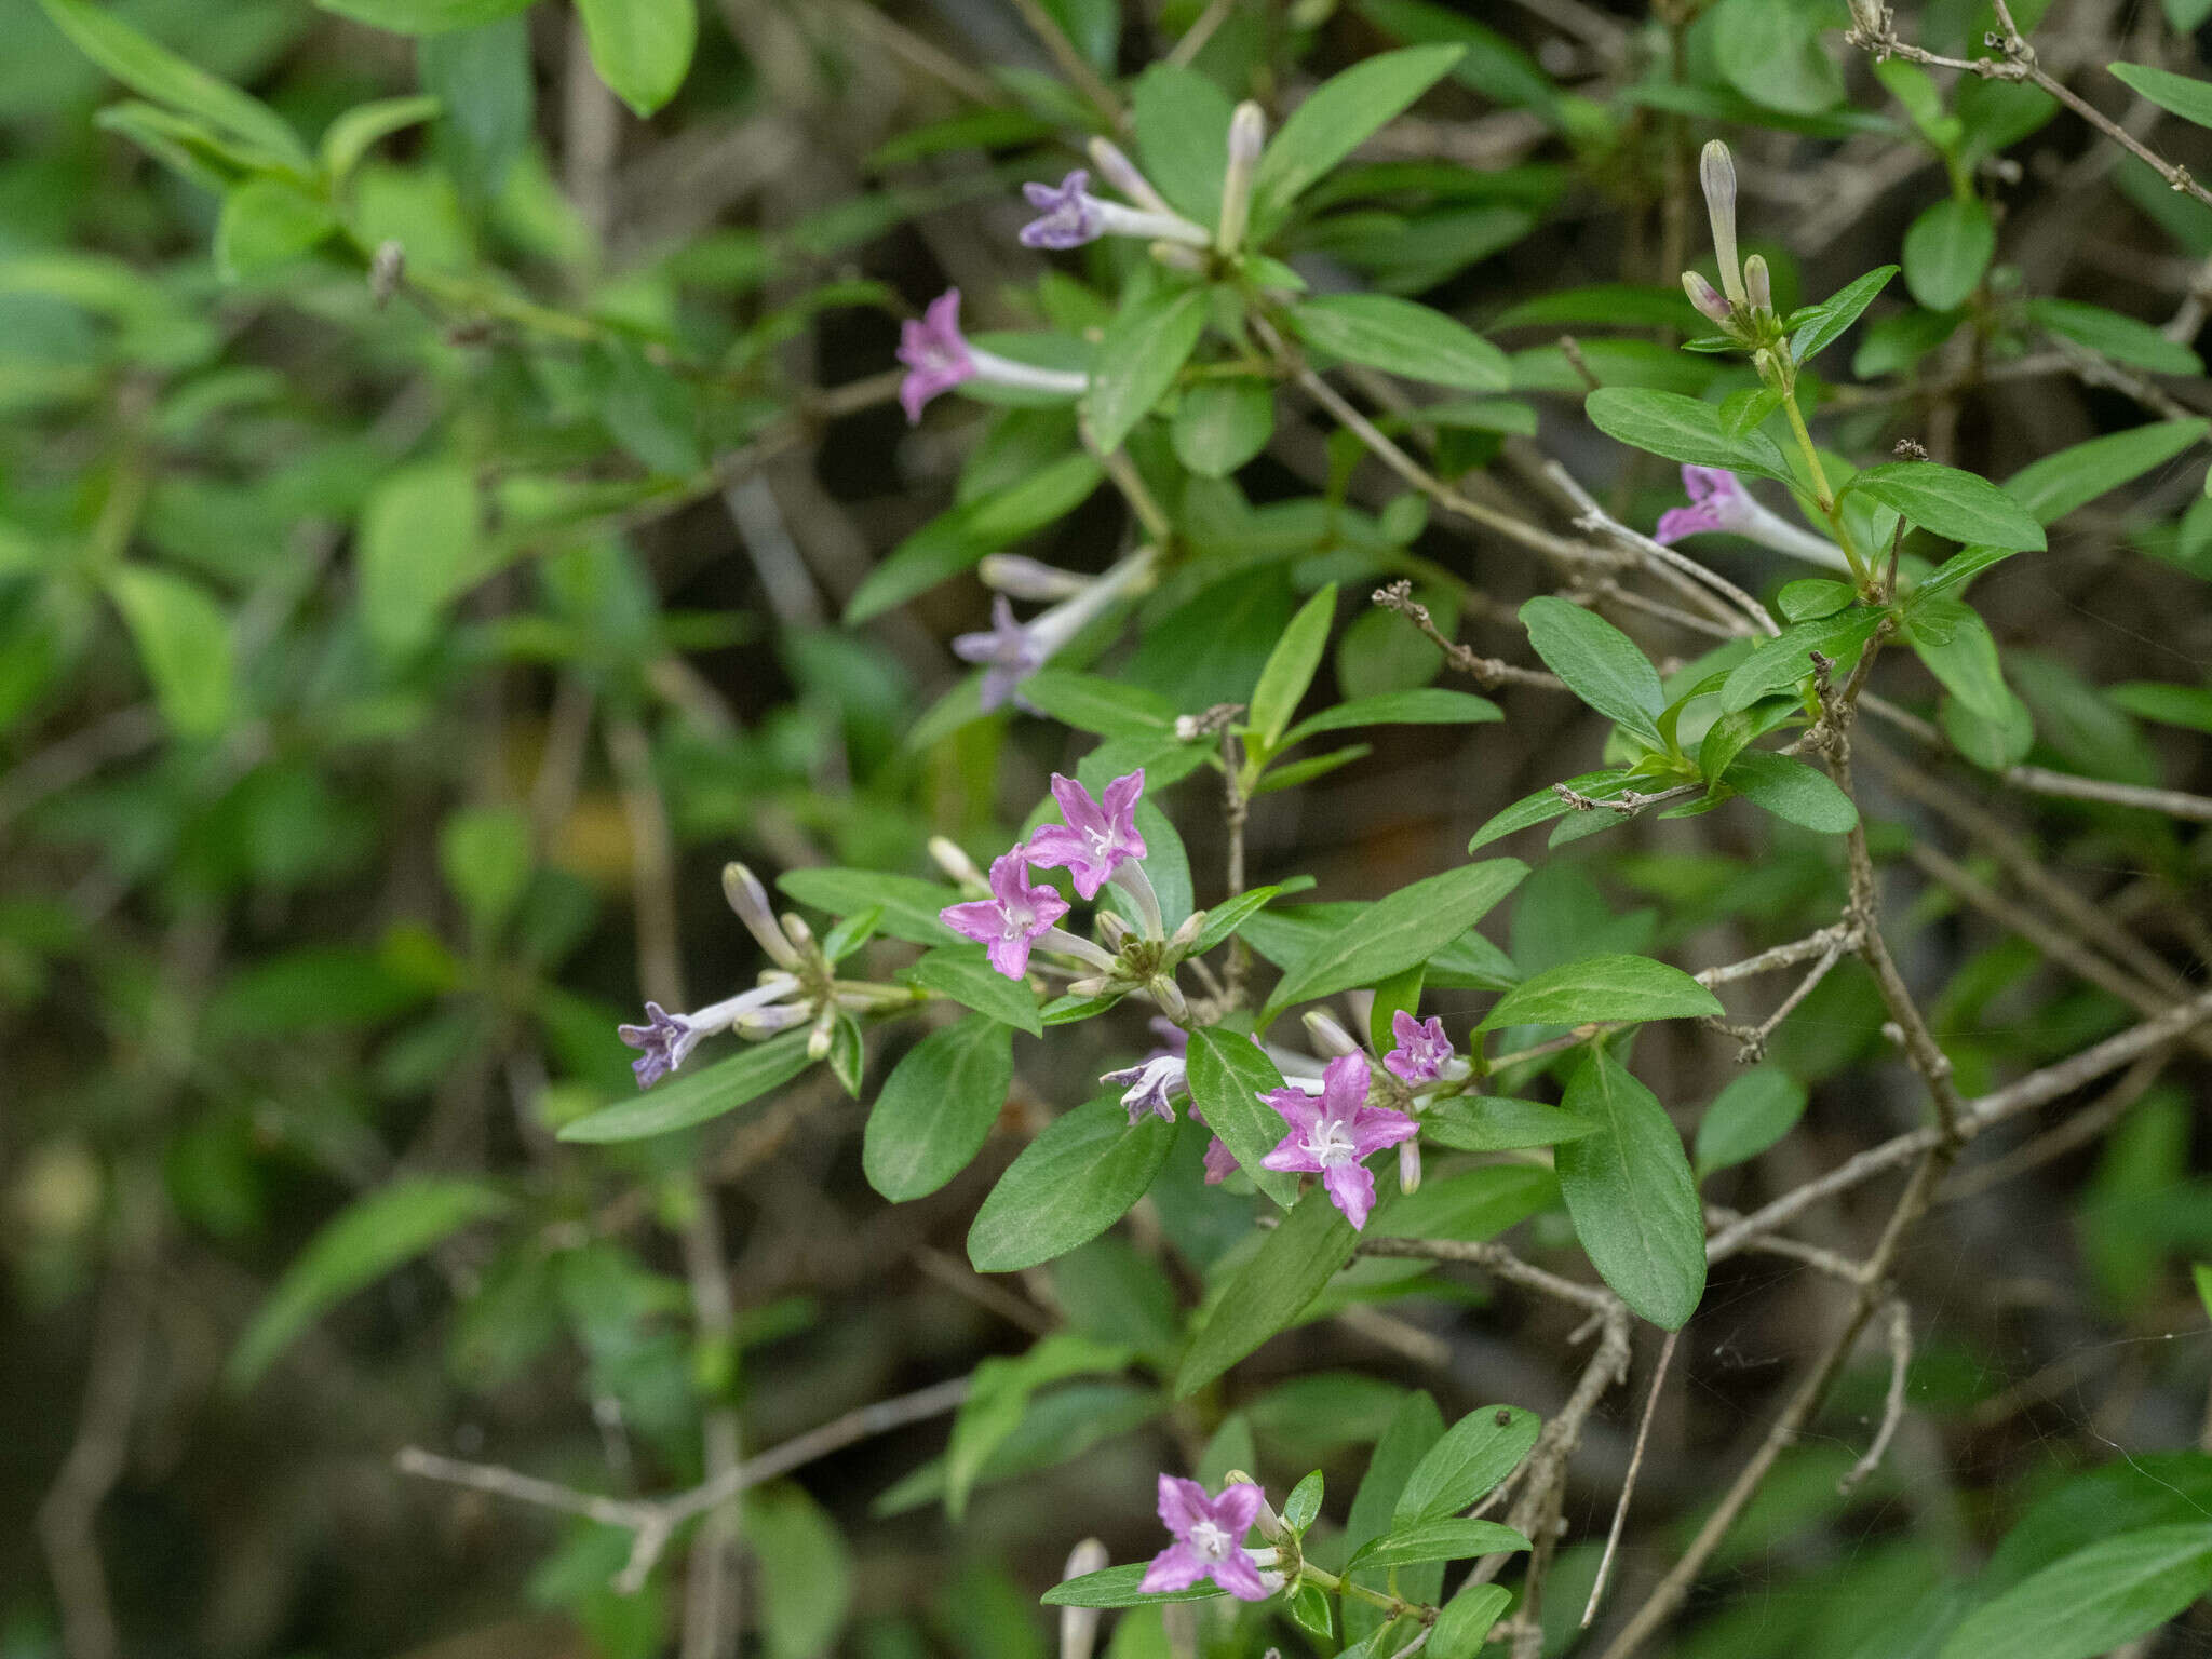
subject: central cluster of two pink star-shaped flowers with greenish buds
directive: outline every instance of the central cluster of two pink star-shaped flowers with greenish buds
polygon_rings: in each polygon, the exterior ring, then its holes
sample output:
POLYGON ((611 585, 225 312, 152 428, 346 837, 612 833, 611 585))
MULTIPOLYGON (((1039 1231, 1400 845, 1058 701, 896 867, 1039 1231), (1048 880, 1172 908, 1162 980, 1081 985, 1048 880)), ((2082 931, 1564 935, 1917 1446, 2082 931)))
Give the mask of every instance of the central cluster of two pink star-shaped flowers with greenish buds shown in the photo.
POLYGON ((1091 969, 1068 984, 1068 995, 1106 998, 1141 991, 1159 1002, 1172 1020, 1186 1020, 1183 993, 1175 984, 1181 962, 1206 927, 1197 911, 1170 938, 1159 909, 1159 894, 1144 872, 1148 847, 1137 830, 1137 801, 1144 796, 1144 768, 1106 785, 1093 796, 1075 779, 1053 774, 1053 799, 1064 823, 1046 823, 1029 841, 1009 847, 991 860, 989 876, 975 876, 973 865, 956 849, 940 845, 947 863, 978 898, 947 905, 940 916, 962 938, 984 947, 991 967, 1009 980, 1029 973, 1031 949, 1055 951, 1091 969), (958 860, 958 863, 951 863, 958 860), (1066 869, 1079 898, 1097 898, 1108 885, 1135 916, 1135 925, 1113 911, 1097 914, 1106 949, 1060 927, 1068 900, 1057 889, 1031 883, 1029 867, 1066 869), (987 896, 984 896, 987 894, 987 896))

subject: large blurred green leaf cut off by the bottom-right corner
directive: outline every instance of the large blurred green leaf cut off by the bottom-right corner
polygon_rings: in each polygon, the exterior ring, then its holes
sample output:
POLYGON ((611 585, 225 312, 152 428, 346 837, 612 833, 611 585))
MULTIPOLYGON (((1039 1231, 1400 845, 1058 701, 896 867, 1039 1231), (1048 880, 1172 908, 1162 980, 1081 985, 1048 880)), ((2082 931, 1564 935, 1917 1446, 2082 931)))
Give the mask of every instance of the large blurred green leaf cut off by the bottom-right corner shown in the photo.
POLYGON ((1975 1608, 1942 1659, 2090 1659, 2212 1588, 2212 1522, 2104 1537, 1975 1608))

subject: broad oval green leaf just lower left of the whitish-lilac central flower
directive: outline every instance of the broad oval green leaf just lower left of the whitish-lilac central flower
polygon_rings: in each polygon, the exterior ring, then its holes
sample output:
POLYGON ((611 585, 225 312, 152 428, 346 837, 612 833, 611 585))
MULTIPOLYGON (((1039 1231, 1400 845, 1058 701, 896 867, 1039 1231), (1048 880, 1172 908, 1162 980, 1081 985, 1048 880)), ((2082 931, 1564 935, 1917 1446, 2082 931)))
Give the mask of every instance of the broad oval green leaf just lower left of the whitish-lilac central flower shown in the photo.
POLYGON ((1144 1197, 1172 1144, 1175 1124, 1130 1124, 1119 1095, 1062 1113, 1006 1166, 975 1212, 975 1272, 1020 1272, 1091 1243, 1144 1197))

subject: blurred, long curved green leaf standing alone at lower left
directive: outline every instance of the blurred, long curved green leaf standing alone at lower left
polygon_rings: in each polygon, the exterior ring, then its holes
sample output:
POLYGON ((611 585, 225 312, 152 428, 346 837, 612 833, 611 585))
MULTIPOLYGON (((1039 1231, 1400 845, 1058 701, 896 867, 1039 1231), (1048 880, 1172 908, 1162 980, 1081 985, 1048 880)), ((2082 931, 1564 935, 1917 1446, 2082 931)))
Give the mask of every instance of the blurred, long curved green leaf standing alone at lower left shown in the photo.
POLYGON ((285 1267, 230 1352, 223 1380, 234 1389, 252 1387, 270 1360, 334 1305, 507 1208, 498 1188, 431 1175, 403 1175, 356 1199, 285 1267))

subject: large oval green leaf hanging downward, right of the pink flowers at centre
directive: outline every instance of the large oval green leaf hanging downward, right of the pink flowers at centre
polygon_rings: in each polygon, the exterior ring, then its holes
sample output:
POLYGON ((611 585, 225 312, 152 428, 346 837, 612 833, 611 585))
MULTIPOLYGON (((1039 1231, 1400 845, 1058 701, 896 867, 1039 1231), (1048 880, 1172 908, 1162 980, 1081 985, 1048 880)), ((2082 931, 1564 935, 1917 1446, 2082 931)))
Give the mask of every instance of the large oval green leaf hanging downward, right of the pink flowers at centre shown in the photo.
POLYGON ((1705 1212, 1681 1135, 1606 1044, 1590 1046, 1562 1104, 1597 1124, 1553 1152, 1575 1237, 1624 1303, 1679 1332, 1705 1294, 1705 1212))

